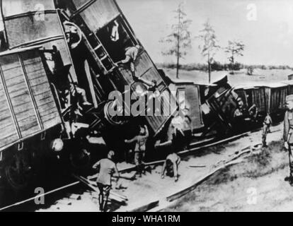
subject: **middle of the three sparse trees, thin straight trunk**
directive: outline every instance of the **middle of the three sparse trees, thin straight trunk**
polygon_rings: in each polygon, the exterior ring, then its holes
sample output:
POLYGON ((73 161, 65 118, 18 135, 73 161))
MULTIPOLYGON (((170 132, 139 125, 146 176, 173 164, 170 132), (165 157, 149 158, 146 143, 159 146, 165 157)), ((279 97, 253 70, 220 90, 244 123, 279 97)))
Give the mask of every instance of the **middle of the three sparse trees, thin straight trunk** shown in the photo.
POLYGON ((214 54, 219 50, 219 45, 217 44, 217 37, 214 32, 214 28, 209 24, 209 20, 207 20, 203 24, 204 28, 200 30, 200 35, 197 38, 200 38, 202 44, 200 44, 199 48, 201 50, 201 54, 203 57, 207 57, 207 66, 209 71, 209 83, 211 82, 211 64, 214 60, 214 54))

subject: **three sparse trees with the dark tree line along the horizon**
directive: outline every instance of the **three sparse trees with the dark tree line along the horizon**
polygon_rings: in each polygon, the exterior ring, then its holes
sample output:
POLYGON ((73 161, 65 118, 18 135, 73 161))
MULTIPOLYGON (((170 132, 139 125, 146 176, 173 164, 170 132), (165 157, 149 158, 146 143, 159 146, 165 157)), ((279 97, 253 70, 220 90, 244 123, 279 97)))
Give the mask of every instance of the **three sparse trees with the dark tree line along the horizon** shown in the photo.
POLYGON ((240 40, 228 40, 226 47, 222 48, 218 44, 217 36, 215 34, 214 28, 207 20, 203 24, 202 30, 200 30, 199 35, 194 38, 199 40, 200 44, 198 48, 202 57, 205 58, 206 64, 180 64, 180 59, 184 59, 188 50, 192 48, 192 34, 189 27, 192 20, 187 18, 187 14, 184 11, 183 3, 178 5, 178 8, 173 11, 175 14, 174 18, 176 23, 171 25, 171 32, 168 36, 163 37, 160 42, 169 44, 168 49, 163 50, 161 53, 167 56, 176 57, 176 64, 158 64, 163 68, 176 69, 176 78, 179 78, 179 70, 199 70, 208 71, 209 82, 211 78, 212 71, 230 71, 234 74, 234 71, 239 71, 241 69, 246 69, 248 75, 253 75, 254 69, 292 69, 290 66, 266 66, 266 65, 245 65, 236 61, 236 57, 242 57, 245 44, 240 40), (214 55, 222 49, 226 55, 229 63, 222 64, 214 59, 214 55))

